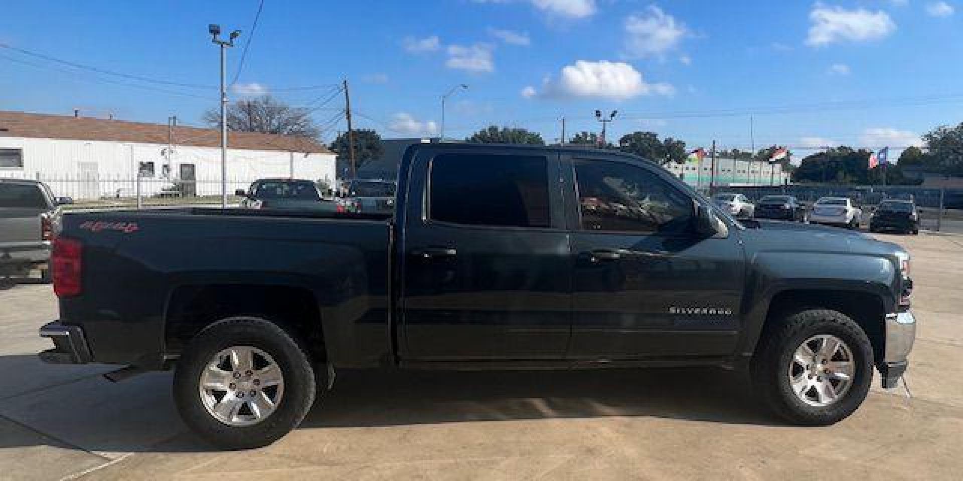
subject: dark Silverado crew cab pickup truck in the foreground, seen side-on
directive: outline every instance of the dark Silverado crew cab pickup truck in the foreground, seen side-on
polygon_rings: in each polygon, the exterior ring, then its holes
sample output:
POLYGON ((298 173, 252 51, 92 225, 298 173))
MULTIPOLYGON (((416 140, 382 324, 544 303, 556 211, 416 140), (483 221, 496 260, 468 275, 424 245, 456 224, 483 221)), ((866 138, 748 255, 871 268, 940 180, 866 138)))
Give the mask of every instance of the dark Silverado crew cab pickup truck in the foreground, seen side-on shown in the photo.
POLYGON ((40 357, 174 368, 182 417, 234 448, 295 428, 339 369, 742 368, 824 425, 907 366, 896 244, 740 223, 610 151, 417 144, 397 192, 394 215, 65 215, 40 357))

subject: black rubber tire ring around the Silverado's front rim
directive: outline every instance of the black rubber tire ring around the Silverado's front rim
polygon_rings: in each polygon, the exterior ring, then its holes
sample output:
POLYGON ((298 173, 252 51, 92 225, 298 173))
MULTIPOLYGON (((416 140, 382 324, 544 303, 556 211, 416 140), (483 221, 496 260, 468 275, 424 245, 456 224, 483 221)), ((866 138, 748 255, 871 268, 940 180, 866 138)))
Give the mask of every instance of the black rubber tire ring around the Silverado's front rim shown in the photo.
POLYGON ((770 319, 752 361, 756 392, 768 408, 794 424, 825 426, 849 417, 859 408, 872 382, 872 344, 863 329, 848 316, 825 309, 794 311, 770 319), (806 404, 793 392, 787 375, 795 349, 813 336, 828 334, 846 342, 852 351, 855 372, 848 391, 827 406, 806 404))

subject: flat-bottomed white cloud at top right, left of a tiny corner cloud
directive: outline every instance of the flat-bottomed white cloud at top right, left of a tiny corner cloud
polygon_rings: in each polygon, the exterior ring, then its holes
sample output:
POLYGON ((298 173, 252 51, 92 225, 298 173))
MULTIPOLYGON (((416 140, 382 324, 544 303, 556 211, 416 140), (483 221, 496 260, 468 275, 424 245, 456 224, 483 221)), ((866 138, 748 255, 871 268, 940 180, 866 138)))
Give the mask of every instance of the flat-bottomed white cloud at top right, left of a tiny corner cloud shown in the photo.
POLYGON ((806 44, 820 46, 834 41, 878 40, 897 29, 888 13, 864 9, 846 10, 817 3, 809 13, 812 23, 806 44))

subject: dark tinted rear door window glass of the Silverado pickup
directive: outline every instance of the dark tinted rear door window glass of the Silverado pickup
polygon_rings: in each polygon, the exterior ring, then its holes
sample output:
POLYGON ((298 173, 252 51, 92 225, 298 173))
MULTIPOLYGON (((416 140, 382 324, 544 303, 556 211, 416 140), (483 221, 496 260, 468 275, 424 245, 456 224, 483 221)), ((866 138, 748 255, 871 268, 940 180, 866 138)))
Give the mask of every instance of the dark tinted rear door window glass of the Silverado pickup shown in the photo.
POLYGON ((545 157, 446 154, 431 161, 429 216, 466 225, 549 227, 545 157))

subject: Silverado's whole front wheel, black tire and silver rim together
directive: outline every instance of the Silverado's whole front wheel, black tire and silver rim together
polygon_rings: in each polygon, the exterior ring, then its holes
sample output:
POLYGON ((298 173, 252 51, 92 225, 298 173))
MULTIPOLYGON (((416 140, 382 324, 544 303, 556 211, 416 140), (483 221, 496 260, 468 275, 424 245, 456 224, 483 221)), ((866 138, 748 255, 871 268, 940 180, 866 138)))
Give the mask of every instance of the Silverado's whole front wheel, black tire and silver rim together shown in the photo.
POLYGON ((753 384, 768 408, 801 425, 829 425, 859 408, 872 381, 872 344, 848 316, 811 309, 764 334, 752 364, 753 384))

